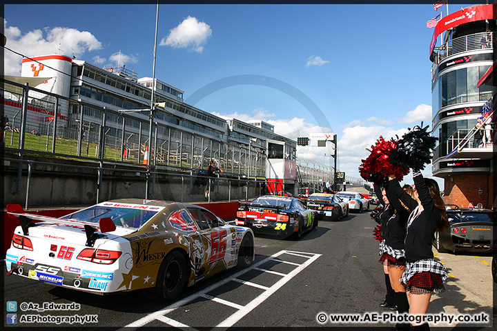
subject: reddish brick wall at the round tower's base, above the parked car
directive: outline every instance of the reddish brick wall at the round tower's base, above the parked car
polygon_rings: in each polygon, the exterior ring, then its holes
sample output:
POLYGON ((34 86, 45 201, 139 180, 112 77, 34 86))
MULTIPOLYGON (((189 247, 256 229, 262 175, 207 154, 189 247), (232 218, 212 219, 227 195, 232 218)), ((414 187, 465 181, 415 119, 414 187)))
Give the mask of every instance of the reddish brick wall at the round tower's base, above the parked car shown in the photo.
POLYGON ((491 209, 493 199, 493 174, 451 174, 445 178, 445 204, 466 208, 469 203, 482 203, 483 208, 491 209), (482 194, 478 194, 478 190, 482 194))

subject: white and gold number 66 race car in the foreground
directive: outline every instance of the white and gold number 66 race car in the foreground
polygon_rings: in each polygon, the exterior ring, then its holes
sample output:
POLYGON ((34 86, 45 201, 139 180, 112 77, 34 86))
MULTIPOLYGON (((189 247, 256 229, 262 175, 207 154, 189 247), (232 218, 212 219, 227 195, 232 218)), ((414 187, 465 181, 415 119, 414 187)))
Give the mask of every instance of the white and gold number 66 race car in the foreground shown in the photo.
POLYGON ((249 228, 198 205, 118 199, 64 217, 24 212, 6 252, 8 275, 96 294, 144 290, 173 301, 217 272, 254 260, 249 228))

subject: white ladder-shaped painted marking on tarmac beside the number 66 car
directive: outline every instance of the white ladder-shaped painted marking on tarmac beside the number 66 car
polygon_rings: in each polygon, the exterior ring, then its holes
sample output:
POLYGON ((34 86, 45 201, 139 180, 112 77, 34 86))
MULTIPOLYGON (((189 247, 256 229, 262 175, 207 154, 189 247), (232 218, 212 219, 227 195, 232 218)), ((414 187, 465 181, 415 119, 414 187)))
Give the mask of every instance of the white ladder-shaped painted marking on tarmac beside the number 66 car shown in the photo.
POLYGON ((173 310, 175 310, 183 305, 190 303, 191 301, 193 301, 199 297, 211 299, 213 301, 217 301, 217 302, 222 303, 224 305, 229 305, 233 308, 236 308, 238 310, 237 312, 235 312, 230 317, 228 317, 227 319, 222 321, 219 325, 217 325, 217 327, 221 327, 221 328, 230 328, 233 324, 235 324, 237 321, 240 321, 240 319, 242 319, 246 314, 248 314, 249 312, 251 312, 251 310, 253 310, 255 307, 257 307, 257 305, 260 305, 260 303, 262 303, 264 300, 269 298, 271 296, 271 294, 273 294, 274 292, 279 290, 282 287, 282 285, 284 285, 290 279, 295 277, 295 275, 297 275, 299 272, 304 270, 307 266, 309 266, 311 263, 313 263, 313 261, 318 259, 320 256, 321 256, 321 254, 292 252, 292 251, 288 251, 288 250, 282 250, 280 252, 277 252, 277 253, 271 255, 271 257, 267 257, 266 259, 251 265, 251 267, 249 267, 249 268, 246 268, 244 270, 240 270, 239 272, 236 272, 235 274, 231 275, 231 277, 228 277, 226 279, 223 279, 222 281, 219 281, 213 285, 210 285, 207 288, 204 288, 204 290, 202 290, 202 291, 199 291, 197 293, 193 293, 182 300, 179 300, 171 305, 168 305, 167 307, 162 308, 161 310, 157 310, 157 312, 153 312, 151 314, 148 314, 145 317, 142 317, 142 319, 138 319, 137 321, 134 321, 133 323, 130 323, 130 324, 124 326, 124 328, 121 328, 119 330, 120 331, 134 330, 135 328, 142 327, 142 326, 146 325, 147 323, 150 323, 151 321, 154 321, 154 320, 162 321, 168 325, 171 325, 171 326, 174 326, 175 328, 180 328, 183 330, 196 330, 195 328, 192 328, 188 325, 185 325, 179 321, 175 321, 173 319, 165 317, 164 315, 168 314, 169 312, 172 312, 173 310), (263 263, 274 260, 275 257, 279 257, 282 254, 289 254, 289 255, 296 255, 299 257, 305 257, 307 259, 307 261, 298 265, 298 267, 295 268, 294 270, 292 270, 289 274, 282 274, 280 272, 273 272, 272 270, 265 270, 262 268, 258 268, 258 265, 262 265, 263 263), (304 255, 304 254, 307 254, 307 255, 304 255), (242 281, 242 280, 237 278, 237 277, 240 277, 242 274, 245 274, 246 272, 249 272, 251 270, 261 270, 263 272, 275 273, 275 274, 278 274, 279 276, 281 276, 282 279, 277 281, 270 288, 267 288, 264 285, 251 283, 249 281, 242 281), (232 303, 230 301, 226 301, 224 299, 220 299, 217 297, 212 297, 211 295, 206 294, 208 292, 211 292, 215 288, 218 288, 218 287, 228 283, 229 281, 237 281, 239 283, 250 285, 250 286, 253 286, 256 288, 262 288, 264 290, 264 292, 262 294, 260 294, 258 297, 256 297, 255 299, 253 299, 253 301, 249 302, 247 305, 244 305, 244 306, 238 305, 237 303, 232 303))

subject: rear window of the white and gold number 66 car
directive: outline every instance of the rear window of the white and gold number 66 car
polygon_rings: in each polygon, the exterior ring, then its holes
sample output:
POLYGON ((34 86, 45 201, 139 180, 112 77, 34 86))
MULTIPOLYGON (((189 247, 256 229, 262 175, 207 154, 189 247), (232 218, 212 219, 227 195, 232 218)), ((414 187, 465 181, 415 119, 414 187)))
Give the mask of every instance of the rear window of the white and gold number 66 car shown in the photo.
MULTIPOLYGON (((162 209, 162 208, 161 208, 162 209)), ((88 209, 79 210, 61 219, 74 219, 88 223, 98 223, 104 217, 110 217, 115 225, 123 228, 139 228, 154 217, 158 210, 140 210, 106 205, 94 205, 88 209)))

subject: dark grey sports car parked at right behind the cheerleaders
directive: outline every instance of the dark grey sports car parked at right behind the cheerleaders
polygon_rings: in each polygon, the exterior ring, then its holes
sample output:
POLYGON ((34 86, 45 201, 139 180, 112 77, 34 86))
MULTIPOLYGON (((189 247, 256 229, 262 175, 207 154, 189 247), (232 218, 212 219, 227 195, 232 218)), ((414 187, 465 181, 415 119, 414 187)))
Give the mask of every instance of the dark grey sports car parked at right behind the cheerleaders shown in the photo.
POLYGON ((433 246, 438 252, 493 252, 496 215, 488 209, 448 209, 450 227, 435 233, 433 246))

